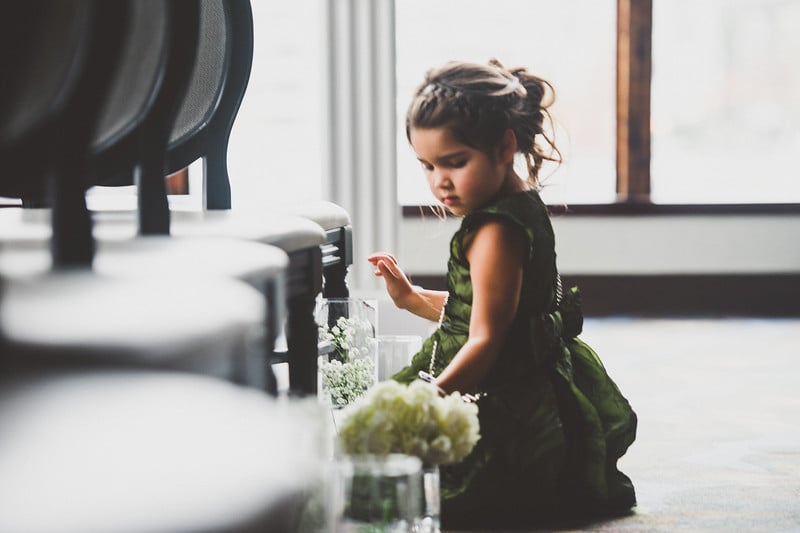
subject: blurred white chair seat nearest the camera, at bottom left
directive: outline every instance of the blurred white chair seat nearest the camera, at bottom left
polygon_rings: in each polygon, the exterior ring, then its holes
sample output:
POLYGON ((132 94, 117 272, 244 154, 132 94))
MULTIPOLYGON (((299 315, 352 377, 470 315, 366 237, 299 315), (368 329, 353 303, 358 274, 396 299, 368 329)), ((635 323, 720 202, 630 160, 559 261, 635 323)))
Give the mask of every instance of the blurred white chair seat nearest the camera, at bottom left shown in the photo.
POLYGON ((201 376, 5 376, 0 531, 296 531, 315 520, 326 431, 313 399, 201 376))

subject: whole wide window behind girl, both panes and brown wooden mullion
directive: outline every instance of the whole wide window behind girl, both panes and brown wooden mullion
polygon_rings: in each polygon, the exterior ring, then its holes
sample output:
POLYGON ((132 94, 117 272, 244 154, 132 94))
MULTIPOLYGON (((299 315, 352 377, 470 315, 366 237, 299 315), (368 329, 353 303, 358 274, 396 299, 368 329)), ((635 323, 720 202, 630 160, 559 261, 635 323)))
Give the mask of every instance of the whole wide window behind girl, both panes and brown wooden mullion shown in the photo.
MULTIPOLYGON (((545 181, 550 203, 800 203, 800 2, 402 0, 396 11, 400 128, 424 71, 449 59, 494 56, 554 84, 565 164, 545 181)), ((430 202, 420 176, 401 129, 401 204, 430 202)))

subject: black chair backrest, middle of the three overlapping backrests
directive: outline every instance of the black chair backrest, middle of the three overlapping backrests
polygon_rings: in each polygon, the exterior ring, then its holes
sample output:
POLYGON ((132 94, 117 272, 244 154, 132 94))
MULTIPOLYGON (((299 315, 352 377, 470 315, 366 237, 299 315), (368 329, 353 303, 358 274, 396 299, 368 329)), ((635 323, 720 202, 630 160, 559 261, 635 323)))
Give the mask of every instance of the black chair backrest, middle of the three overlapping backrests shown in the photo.
POLYGON ((138 186, 139 233, 168 234, 164 183, 170 132, 189 88, 199 0, 137 0, 109 105, 93 146, 92 184, 138 186), (154 22, 154 18, 160 20, 154 22))

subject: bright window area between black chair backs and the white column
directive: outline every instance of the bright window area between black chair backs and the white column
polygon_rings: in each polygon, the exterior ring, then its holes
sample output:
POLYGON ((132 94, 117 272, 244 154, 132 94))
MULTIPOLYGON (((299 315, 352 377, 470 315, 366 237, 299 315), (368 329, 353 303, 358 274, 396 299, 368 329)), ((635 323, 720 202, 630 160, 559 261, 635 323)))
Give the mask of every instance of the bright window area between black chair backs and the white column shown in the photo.
POLYGON ((322 15, 312 5, 252 2, 253 66, 228 152, 234 206, 322 195, 322 15))

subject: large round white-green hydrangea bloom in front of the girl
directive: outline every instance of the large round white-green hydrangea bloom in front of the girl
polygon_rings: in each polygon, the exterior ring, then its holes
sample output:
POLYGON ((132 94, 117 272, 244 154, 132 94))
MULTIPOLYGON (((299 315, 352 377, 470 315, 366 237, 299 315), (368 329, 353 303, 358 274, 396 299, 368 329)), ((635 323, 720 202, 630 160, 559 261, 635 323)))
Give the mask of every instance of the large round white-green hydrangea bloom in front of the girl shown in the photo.
POLYGON ((426 465, 463 460, 480 439, 478 406, 457 392, 440 397, 422 381, 384 381, 342 412, 339 440, 347 454, 403 453, 426 465))

